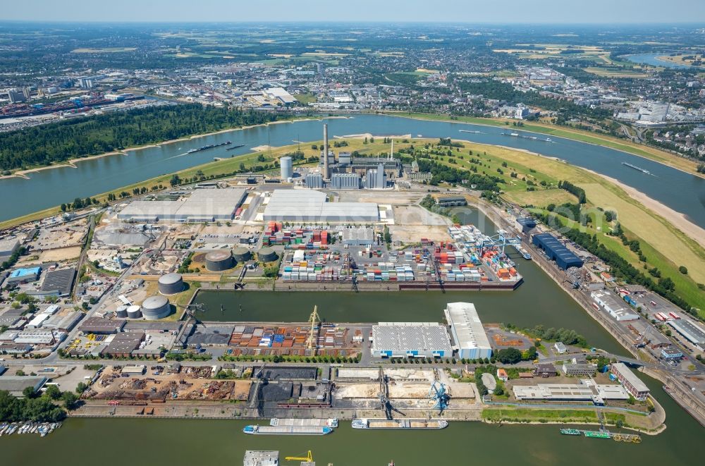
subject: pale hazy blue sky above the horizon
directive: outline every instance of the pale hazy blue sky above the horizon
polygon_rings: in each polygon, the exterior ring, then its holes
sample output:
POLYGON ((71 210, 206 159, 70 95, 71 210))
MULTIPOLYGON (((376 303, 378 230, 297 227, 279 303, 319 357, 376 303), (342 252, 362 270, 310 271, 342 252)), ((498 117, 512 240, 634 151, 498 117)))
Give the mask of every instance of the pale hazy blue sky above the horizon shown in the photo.
POLYGON ((453 22, 639 24, 705 22, 702 0, 122 0, 119 8, 85 0, 25 0, 3 10, 3 20, 90 22, 453 22))

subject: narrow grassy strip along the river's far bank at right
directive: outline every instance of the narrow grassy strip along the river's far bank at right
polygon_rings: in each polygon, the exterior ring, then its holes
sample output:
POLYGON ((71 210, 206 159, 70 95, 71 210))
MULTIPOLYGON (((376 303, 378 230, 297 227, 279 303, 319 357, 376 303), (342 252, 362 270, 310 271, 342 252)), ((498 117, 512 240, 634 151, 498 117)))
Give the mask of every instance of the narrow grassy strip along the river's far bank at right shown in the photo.
MULTIPOLYGON (((422 120, 450 121, 450 116, 448 115, 414 114, 408 112, 388 112, 388 114, 396 116, 405 116, 407 118, 419 118, 422 120)), ((458 116, 455 118, 457 119, 453 121, 489 126, 505 126, 511 125, 512 123, 516 122, 515 120, 508 120, 503 118, 478 118, 474 116, 458 116)), ((572 139, 580 142, 587 142, 589 144, 611 147, 612 149, 621 150, 632 155, 637 155, 639 157, 658 161, 661 164, 668 165, 673 168, 678 168, 679 170, 685 171, 687 173, 692 173, 695 176, 703 176, 701 173, 697 173, 697 164, 694 161, 683 159, 682 157, 678 157, 674 154, 662 151, 661 149, 656 149, 656 147, 648 147, 644 145, 635 144, 634 142, 630 142, 627 140, 620 140, 617 137, 589 133, 588 131, 565 128, 563 126, 550 125, 548 123, 525 123, 525 125, 522 126, 521 129, 533 131, 534 133, 565 137, 566 139, 572 139)))

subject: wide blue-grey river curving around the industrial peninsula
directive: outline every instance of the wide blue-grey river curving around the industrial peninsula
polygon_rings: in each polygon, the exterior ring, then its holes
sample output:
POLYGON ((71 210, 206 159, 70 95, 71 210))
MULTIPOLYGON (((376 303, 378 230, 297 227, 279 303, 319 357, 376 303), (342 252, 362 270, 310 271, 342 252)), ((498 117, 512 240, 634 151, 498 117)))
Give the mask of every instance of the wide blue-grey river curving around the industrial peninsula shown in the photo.
MULTIPOLYGON (((526 149, 549 157, 558 157, 570 164, 589 168, 616 178, 644 192, 654 200, 682 212, 691 221, 705 228, 705 180, 675 168, 658 164, 642 157, 615 149, 590 145, 585 142, 551 137, 554 142, 529 140, 502 135, 515 128, 495 128, 465 123, 422 121, 397 116, 356 115, 354 118, 327 120, 331 135, 372 133, 373 135, 407 135, 416 137, 454 137, 489 145, 504 145, 526 149), (460 133, 460 130, 481 133, 460 133), (653 173, 646 175, 624 166, 627 162, 653 173)), ((522 132, 525 135, 534 133, 522 132)), ((230 157, 251 152, 252 147, 293 144, 295 141, 321 140, 321 121, 298 121, 245 130, 233 130, 193 140, 174 142, 159 147, 133 150, 129 155, 116 155, 80 161, 78 168, 61 167, 30 173, 30 179, 4 178, 0 180, 0 221, 52 207, 61 202, 72 202, 75 197, 87 197, 121 188, 164 173, 204 164, 214 157, 230 157), (188 149, 231 140, 244 147, 226 151, 225 147, 195 154, 188 149), (9 202, 8 202, 9 201, 9 202)), ((546 138, 546 135, 537 135, 546 138)), ((606 206, 608 207, 608 206, 606 206)))

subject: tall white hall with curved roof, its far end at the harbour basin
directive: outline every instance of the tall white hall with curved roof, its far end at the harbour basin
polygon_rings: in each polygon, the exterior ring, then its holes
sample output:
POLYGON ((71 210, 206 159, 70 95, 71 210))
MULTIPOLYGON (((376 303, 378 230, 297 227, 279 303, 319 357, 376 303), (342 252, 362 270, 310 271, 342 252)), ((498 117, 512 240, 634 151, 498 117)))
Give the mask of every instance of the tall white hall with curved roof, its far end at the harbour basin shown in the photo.
POLYGON ((492 356, 489 338, 472 302, 448 302, 444 312, 453 343, 458 346, 458 357, 477 359, 492 356))

